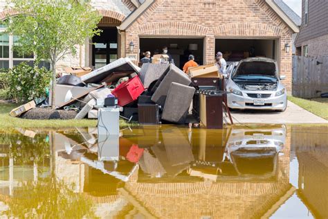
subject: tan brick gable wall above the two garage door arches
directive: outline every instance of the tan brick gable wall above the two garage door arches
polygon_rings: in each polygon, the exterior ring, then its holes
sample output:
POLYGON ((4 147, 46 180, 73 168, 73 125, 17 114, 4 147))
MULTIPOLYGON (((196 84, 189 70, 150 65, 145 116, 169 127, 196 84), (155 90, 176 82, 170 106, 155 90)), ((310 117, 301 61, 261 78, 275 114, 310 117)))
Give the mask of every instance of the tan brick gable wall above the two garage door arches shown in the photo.
MULTIPOLYGON (((205 28, 221 24, 266 24, 286 32, 298 30, 297 26, 289 26, 277 14, 278 9, 273 10, 266 1, 272 0, 230 0, 229 3, 215 0, 149 0, 123 21, 120 29, 131 30, 140 24, 177 21, 205 28)), ((284 15, 283 12, 281 14, 284 15)))

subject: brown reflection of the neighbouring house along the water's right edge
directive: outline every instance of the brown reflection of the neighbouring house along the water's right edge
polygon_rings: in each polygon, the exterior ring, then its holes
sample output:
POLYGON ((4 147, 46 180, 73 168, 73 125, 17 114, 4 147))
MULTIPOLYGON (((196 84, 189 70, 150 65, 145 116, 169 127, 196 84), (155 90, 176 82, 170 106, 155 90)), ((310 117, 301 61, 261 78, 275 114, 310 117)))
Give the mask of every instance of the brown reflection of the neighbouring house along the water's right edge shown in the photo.
POLYGON ((298 195, 316 218, 328 218, 328 128, 292 128, 299 163, 298 195))

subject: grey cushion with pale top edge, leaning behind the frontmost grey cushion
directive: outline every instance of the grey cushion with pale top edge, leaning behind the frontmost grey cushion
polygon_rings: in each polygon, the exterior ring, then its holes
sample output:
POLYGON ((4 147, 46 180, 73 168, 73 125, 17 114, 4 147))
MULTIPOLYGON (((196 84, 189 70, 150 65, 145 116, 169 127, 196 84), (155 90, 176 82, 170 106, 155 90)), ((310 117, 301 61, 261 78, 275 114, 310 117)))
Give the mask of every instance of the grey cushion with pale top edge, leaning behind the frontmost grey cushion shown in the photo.
POLYGON ((174 64, 170 64, 170 70, 166 74, 163 74, 152 88, 152 91, 154 91, 152 101, 164 106, 167 92, 172 82, 186 86, 191 84, 190 78, 183 71, 174 64))

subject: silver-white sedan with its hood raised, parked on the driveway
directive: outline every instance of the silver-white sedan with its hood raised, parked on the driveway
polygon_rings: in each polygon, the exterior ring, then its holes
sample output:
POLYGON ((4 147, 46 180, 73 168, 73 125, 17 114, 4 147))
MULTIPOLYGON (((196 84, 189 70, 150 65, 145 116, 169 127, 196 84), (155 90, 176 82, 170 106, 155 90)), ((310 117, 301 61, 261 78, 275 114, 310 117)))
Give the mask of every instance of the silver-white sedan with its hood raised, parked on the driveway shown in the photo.
POLYGON ((287 107, 286 88, 280 80, 277 62, 269 58, 246 58, 228 71, 226 90, 231 109, 273 109, 287 107))

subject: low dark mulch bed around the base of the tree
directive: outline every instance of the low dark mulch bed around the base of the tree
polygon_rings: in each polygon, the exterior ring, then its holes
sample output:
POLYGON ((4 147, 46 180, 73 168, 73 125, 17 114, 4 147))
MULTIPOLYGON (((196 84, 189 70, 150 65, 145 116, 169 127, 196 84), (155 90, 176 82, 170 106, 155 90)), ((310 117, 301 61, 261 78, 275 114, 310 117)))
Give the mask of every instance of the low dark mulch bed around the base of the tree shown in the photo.
POLYGON ((34 108, 24 113, 22 119, 74 119, 78 112, 51 108, 34 108))

